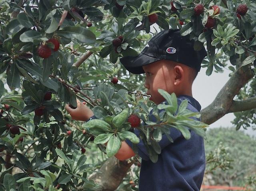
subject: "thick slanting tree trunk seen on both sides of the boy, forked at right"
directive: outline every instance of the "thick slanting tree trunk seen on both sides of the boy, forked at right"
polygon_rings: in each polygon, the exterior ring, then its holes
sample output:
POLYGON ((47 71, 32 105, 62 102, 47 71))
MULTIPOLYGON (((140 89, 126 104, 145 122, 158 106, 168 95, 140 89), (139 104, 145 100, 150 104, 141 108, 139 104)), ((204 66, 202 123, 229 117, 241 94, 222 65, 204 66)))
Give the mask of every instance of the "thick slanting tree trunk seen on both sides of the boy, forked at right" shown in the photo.
MULTIPOLYGON (((247 103, 248 109, 252 109, 252 105, 256 106, 256 98, 243 101, 233 100, 234 96, 253 76, 254 71, 250 65, 239 68, 220 90, 214 101, 200 111, 202 122, 212 124, 229 112, 246 110, 244 108, 245 103, 247 103)), ((100 168, 102 173, 93 174, 90 179, 100 185, 100 189, 97 191, 114 191, 120 185, 131 165, 127 161, 109 158, 100 168)))

